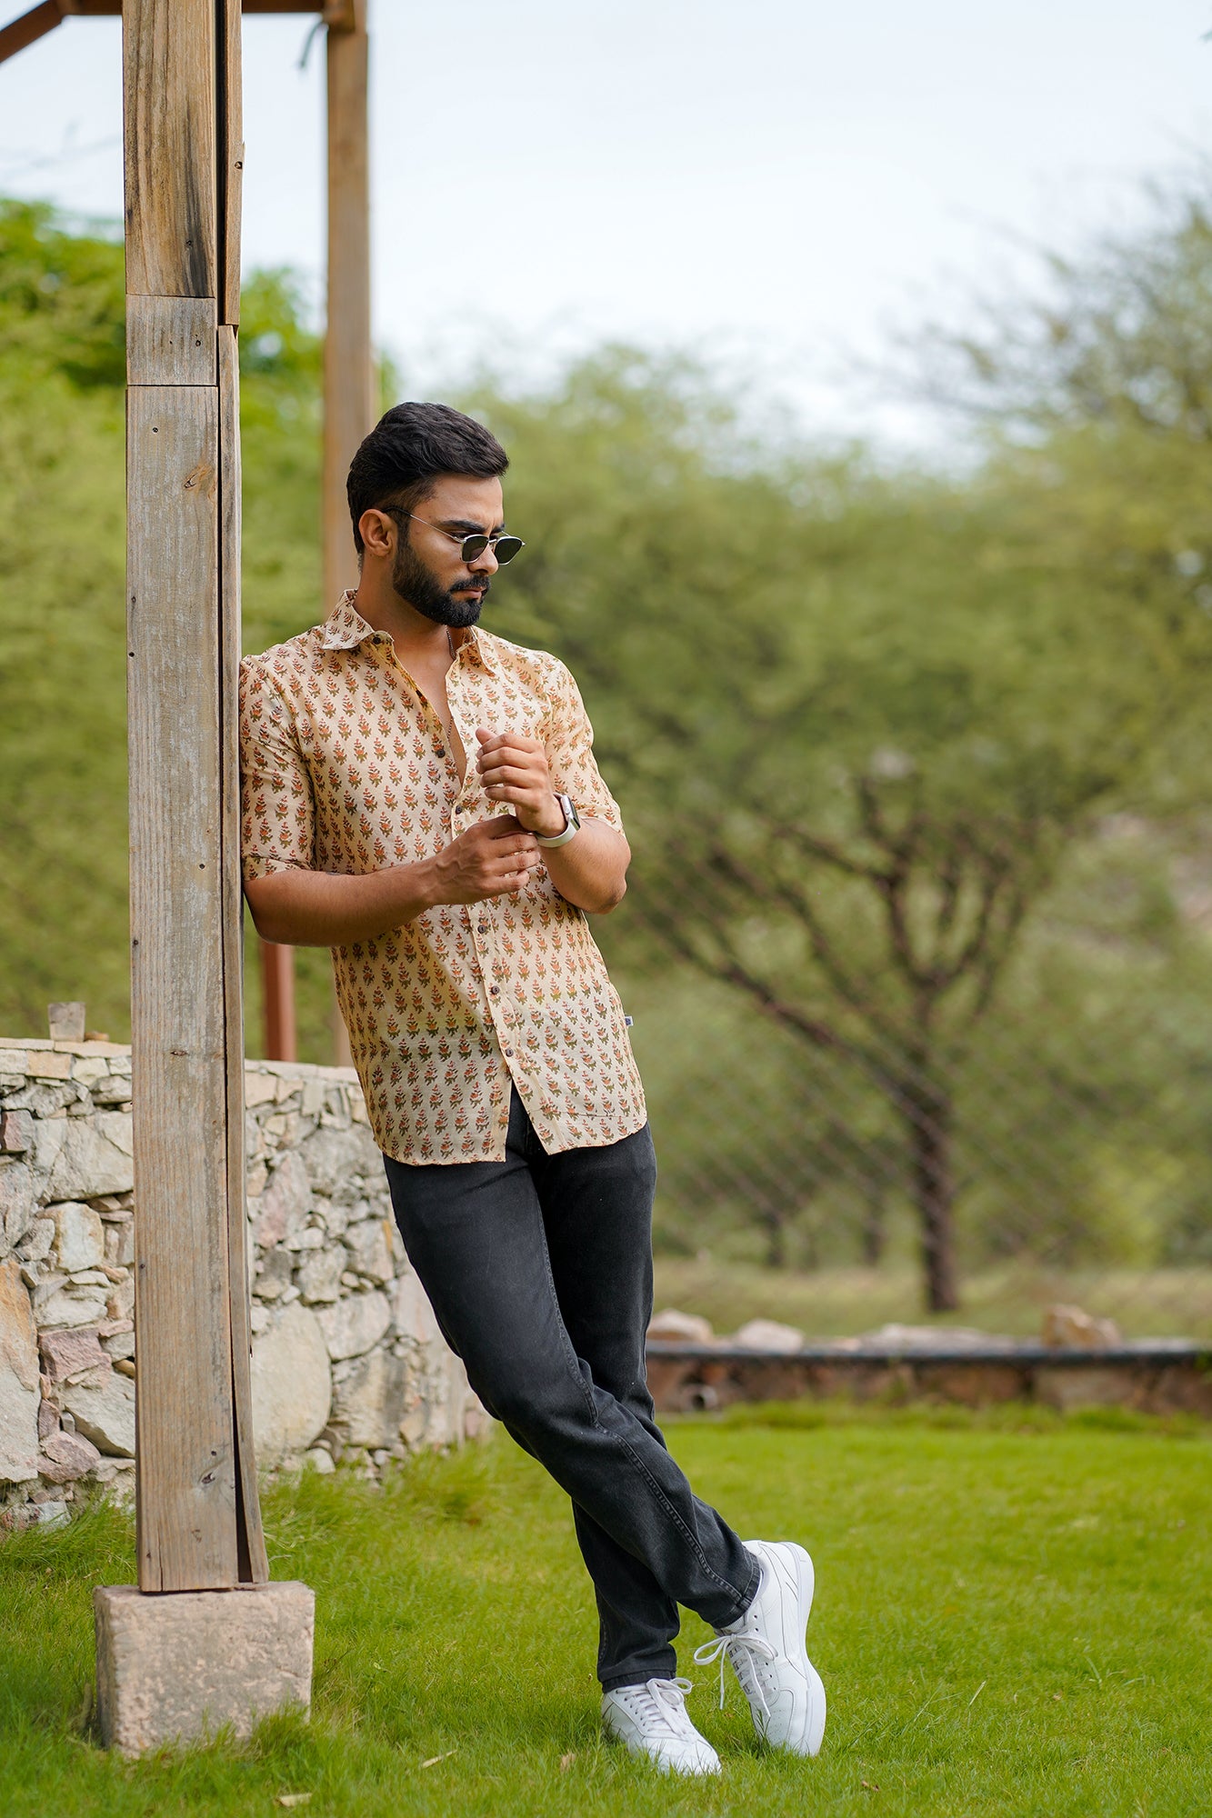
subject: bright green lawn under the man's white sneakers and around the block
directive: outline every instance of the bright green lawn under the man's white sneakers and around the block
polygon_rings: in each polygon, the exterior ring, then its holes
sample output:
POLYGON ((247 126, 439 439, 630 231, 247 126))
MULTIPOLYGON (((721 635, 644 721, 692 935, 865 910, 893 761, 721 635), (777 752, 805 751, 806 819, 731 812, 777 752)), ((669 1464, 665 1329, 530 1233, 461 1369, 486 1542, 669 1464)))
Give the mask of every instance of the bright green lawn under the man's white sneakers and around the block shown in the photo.
MULTIPOLYGON (((819 1760, 763 1754, 735 1682, 721 1714, 702 1673, 690 1711, 722 1778, 662 1780, 601 1742, 568 1507, 499 1434, 388 1489, 266 1494, 275 1576, 318 1596, 315 1714, 240 1749, 96 1747, 89 1591, 133 1576, 126 1516, 5 1540, 0 1811, 269 1818, 306 1793, 308 1818, 1212 1813, 1207 1433, 795 1405, 670 1442, 742 1534, 815 1556, 819 1760)), ((704 1634, 688 1616, 682 1669, 704 1634)))

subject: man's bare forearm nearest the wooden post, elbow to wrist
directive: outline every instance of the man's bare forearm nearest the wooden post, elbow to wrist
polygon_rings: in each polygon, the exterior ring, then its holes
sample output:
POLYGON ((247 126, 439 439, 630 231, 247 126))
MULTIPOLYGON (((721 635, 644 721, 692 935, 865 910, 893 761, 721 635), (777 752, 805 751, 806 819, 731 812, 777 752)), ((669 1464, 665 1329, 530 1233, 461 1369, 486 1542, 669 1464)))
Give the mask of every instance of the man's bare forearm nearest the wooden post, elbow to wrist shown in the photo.
POLYGON ((244 885, 262 940, 291 947, 348 947, 402 927, 437 902, 431 860, 364 876, 275 871, 244 885))

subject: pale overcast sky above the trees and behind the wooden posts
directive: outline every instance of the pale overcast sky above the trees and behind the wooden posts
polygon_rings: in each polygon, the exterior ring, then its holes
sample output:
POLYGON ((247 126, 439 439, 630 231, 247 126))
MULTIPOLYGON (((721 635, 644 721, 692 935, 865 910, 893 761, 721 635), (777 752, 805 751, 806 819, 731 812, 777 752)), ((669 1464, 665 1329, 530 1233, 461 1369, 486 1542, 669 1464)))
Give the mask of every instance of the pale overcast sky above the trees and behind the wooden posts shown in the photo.
MULTIPOLYGON (((31 4, 31 0, 25 0, 31 4)), ((25 11, 0 0, 0 24, 25 11)), ((426 395, 601 338, 761 369, 1072 247, 1212 147, 1212 0, 369 0, 375 333, 426 395)), ((246 269, 322 271, 322 45, 246 22, 246 269)), ((0 191, 118 216, 120 29, 0 65, 0 191)), ((912 435, 904 413, 864 427, 912 435)))

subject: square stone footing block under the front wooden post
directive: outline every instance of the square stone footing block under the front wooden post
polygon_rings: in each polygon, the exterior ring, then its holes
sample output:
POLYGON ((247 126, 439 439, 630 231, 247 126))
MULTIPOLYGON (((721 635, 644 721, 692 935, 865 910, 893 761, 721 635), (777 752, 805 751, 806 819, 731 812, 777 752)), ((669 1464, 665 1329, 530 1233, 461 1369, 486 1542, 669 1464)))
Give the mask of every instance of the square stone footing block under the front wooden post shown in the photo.
POLYGON ((302 1583, 238 1591, 98 1585, 96 1714, 120 1754, 247 1736, 277 1711, 311 1709, 315 1591, 302 1583))

